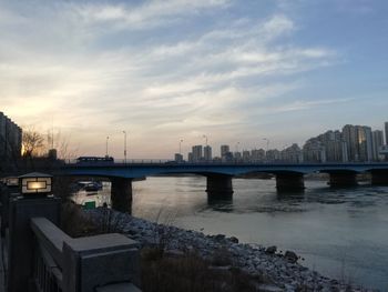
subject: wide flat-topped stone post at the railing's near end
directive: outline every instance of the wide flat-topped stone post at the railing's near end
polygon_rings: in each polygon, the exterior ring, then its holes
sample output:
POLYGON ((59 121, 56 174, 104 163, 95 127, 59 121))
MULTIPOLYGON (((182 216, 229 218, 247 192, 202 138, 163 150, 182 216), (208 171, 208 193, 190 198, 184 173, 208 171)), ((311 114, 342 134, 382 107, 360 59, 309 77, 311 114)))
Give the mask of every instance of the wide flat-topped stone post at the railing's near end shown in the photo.
POLYGON ((139 243, 118 233, 63 242, 63 291, 92 292, 110 283, 140 285, 139 243))

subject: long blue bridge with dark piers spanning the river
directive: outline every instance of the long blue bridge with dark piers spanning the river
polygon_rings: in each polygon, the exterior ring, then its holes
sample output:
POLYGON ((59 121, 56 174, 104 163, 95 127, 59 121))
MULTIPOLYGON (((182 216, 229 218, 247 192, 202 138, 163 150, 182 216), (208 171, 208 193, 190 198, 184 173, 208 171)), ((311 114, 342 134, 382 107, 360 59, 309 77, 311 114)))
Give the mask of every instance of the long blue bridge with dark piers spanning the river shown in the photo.
POLYGON ((211 199, 231 199, 232 178, 249 173, 268 173, 276 178, 278 191, 305 189, 304 175, 329 174, 330 187, 357 185, 357 174, 370 173, 372 184, 388 185, 388 162, 379 163, 68 163, 59 175, 109 178, 112 182, 112 208, 127 210, 132 202, 132 181, 150 175, 197 174, 206 177, 211 199))

